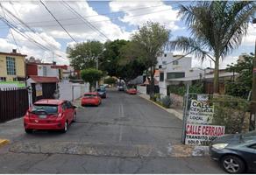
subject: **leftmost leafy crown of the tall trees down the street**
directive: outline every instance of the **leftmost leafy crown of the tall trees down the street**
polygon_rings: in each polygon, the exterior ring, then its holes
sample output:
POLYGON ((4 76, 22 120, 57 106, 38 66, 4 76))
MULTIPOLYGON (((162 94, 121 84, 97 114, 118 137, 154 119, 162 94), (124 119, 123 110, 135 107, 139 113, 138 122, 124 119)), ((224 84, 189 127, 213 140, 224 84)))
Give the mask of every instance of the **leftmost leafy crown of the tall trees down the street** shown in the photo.
POLYGON ((75 70, 96 67, 96 59, 102 56, 103 44, 99 41, 88 41, 67 47, 70 65, 75 70))

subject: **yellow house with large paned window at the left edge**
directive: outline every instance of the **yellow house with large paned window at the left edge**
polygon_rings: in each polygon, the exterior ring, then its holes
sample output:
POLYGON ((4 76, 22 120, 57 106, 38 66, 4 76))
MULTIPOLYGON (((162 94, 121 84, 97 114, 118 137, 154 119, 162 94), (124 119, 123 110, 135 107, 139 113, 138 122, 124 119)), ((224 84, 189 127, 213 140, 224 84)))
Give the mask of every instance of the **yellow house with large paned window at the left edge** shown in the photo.
POLYGON ((25 81, 25 54, 0 52, 0 81, 25 81))

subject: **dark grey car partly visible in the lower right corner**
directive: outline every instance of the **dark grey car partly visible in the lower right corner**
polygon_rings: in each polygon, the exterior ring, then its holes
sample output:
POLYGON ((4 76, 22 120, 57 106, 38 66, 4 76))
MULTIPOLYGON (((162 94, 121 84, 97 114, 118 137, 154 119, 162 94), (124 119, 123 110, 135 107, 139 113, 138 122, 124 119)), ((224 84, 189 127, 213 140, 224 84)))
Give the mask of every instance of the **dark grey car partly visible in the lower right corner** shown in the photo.
POLYGON ((210 157, 217 160, 225 172, 256 172, 256 131, 215 139, 210 144, 210 157))

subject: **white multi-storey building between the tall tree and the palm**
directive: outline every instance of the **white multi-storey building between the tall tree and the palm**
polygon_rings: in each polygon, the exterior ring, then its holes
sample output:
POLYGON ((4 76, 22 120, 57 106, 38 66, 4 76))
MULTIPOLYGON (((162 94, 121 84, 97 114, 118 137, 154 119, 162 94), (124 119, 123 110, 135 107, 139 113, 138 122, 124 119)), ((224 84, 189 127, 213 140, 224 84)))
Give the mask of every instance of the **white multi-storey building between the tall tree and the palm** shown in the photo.
POLYGON ((172 81, 179 78, 202 77, 205 71, 201 68, 192 68, 192 58, 183 55, 174 55, 167 52, 158 57, 157 68, 160 70, 159 88, 160 95, 167 95, 167 86, 177 83, 172 81))

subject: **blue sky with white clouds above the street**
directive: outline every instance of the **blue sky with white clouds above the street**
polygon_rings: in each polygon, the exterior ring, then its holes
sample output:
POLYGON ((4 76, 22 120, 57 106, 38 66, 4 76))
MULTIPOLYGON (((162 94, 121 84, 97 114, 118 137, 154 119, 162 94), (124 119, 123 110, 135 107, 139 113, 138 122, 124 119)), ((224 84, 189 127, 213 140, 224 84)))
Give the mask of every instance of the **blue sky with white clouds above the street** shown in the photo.
MULTIPOLYGON (((180 4, 188 5, 191 2, 145 0, 42 2, 43 4, 39 1, 1 1, 3 8, 0 8, 2 19, 0 52, 11 52, 12 49, 17 48, 18 52, 28 57, 33 56, 44 62, 56 61, 57 64, 68 65, 66 54, 68 45, 72 46, 87 40, 105 42, 107 39, 131 39, 131 35, 147 21, 165 25, 171 31, 170 40, 177 36, 190 36, 186 25, 177 14, 180 4), (11 26, 18 27, 18 30, 13 30, 11 26)), ((221 62, 221 68, 236 62, 241 53, 254 52, 255 38, 256 27, 250 25, 242 44, 221 62)), ((202 63, 191 56, 193 66, 210 66, 209 60, 202 63)))

